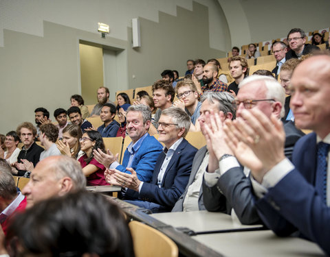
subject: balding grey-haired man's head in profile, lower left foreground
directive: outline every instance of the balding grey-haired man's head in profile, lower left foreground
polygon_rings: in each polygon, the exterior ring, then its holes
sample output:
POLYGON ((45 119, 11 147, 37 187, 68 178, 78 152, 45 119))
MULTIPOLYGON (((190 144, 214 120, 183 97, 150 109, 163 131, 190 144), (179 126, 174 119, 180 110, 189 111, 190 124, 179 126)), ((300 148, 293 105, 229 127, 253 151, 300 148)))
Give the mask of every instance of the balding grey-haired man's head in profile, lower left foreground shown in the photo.
POLYGON ((85 186, 85 175, 74 158, 50 156, 36 164, 22 193, 30 207, 37 201, 82 190, 85 186))

